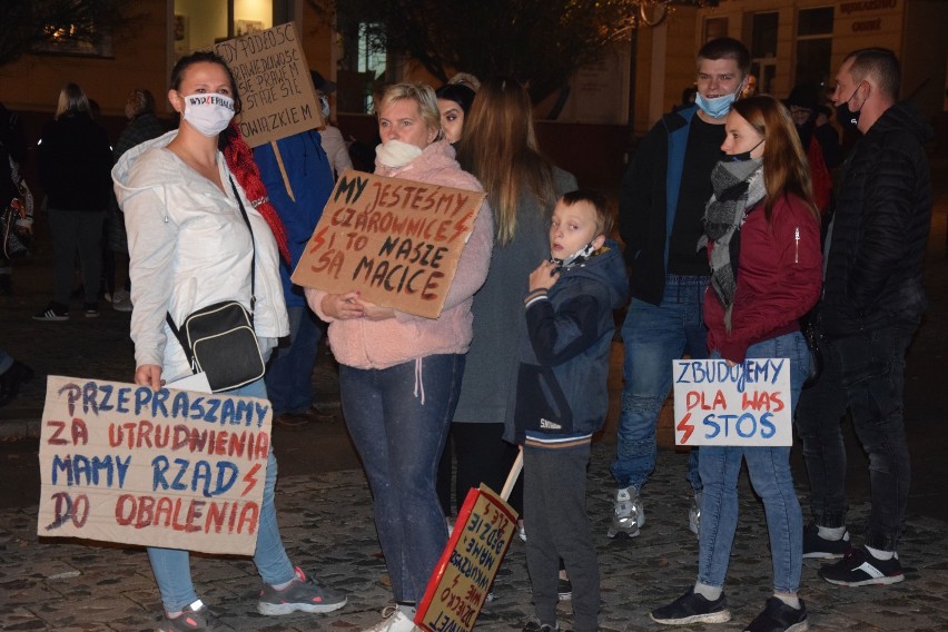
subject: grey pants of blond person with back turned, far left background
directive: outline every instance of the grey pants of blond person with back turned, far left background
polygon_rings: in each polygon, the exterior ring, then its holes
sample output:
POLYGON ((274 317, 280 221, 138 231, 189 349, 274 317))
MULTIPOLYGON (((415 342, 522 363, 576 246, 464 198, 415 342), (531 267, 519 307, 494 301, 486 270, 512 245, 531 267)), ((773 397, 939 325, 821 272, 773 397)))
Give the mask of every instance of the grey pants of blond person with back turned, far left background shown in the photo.
POLYGON ((105 210, 49 209, 49 230, 52 235, 52 257, 56 263, 56 285, 52 299, 69 305, 76 251, 82 265, 82 286, 86 303, 99 300, 102 276, 102 223, 105 210))

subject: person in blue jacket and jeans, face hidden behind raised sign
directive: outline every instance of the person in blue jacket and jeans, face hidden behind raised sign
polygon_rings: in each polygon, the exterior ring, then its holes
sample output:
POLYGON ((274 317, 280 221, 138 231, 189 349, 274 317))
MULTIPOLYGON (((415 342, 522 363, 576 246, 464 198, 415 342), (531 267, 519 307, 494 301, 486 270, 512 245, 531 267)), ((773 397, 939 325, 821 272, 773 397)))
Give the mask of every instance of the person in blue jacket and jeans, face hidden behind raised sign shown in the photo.
POLYGON ((313 367, 323 326, 306 305, 303 288, 289 279, 323 208, 333 192, 333 170, 315 129, 254 148, 254 159, 267 187, 270 203, 286 227, 292 261, 280 259, 279 276, 289 315, 289 344, 274 350, 265 381, 274 406, 274 423, 302 426, 332 421, 313 402, 313 367), (277 155, 278 152, 278 155, 277 155))

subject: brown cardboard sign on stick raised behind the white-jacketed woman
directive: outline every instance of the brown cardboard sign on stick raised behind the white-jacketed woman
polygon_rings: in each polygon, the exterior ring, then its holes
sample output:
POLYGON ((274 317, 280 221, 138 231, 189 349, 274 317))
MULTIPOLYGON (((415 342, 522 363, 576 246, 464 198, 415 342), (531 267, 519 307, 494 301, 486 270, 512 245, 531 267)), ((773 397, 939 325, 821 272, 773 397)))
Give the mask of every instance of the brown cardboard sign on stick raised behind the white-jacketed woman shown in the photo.
POLYGON ((244 106, 240 134, 257 147, 324 126, 309 65, 293 22, 214 45, 227 61, 244 106))

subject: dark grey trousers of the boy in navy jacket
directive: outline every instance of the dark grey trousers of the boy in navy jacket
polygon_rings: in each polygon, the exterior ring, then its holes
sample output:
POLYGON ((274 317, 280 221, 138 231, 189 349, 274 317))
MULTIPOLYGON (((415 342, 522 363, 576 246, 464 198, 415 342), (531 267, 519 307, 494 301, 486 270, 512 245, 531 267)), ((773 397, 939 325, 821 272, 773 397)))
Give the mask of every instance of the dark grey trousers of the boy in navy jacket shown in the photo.
POLYGON ((573 584, 573 630, 599 630, 599 562, 586 515, 590 444, 523 448, 526 567, 541 623, 556 621, 560 559, 573 584))

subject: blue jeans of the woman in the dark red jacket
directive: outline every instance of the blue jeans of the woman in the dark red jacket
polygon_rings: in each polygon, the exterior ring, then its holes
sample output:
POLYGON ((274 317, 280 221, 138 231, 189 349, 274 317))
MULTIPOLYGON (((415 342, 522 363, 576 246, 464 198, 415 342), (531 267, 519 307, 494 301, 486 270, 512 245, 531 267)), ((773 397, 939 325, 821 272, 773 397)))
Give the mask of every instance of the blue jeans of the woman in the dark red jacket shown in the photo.
MULTIPOLYGON (((711 356, 721 357, 718 352, 711 356)), ((790 359, 792 412, 810 368, 810 350, 803 336, 793 332, 751 345, 747 357, 790 359)), ((773 590, 796 593, 800 587, 803 564, 803 516, 793 490, 789 447, 701 447, 699 470, 704 494, 701 498, 698 581, 711 586, 724 585, 738 527, 738 476, 742 458, 748 462, 751 485, 763 501, 773 562, 773 590)))

